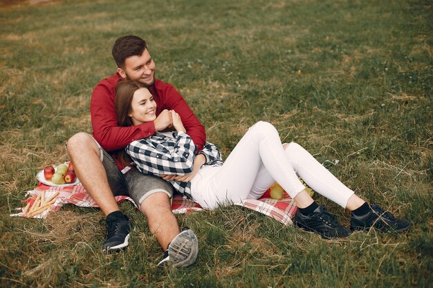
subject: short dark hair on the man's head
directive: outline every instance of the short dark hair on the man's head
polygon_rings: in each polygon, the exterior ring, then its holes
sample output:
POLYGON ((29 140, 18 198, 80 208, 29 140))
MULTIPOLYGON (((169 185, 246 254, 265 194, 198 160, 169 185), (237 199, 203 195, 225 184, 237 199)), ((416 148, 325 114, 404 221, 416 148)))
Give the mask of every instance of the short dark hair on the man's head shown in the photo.
POLYGON ((131 56, 141 56, 146 48, 146 41, 140 37, 133 35, 122 36, 114 42, 111 54, 118 67, 123 68, 125 59, 131 56))

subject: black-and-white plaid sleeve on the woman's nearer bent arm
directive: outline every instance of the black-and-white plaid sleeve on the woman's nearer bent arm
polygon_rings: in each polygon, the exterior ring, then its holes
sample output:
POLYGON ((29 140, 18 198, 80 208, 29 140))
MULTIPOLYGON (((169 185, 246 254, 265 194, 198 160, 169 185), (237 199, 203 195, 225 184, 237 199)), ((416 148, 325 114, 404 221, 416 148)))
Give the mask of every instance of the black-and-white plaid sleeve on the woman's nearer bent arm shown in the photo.
POLYGON ((196 146, 186 133, 173 133, 174 139, 156 134, 131 142, 125 151, 137 169, 146 174, 185 175, 192 172, 196 146))

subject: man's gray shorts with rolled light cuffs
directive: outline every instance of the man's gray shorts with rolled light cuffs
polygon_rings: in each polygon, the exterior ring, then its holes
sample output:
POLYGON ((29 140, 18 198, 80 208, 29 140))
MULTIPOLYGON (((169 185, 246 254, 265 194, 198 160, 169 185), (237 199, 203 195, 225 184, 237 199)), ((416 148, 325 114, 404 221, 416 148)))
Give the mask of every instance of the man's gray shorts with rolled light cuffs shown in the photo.
POLYGON ((149 195, 154 193, 163 192, 169 198, 173 196, 173 186, 169 182, 161 179, 160 177, 145 175, 138 171, 135 167, 129 170, 126 174, 119 171, 118 166, 113 157, 105 151, 100 144, 100 159, 104 165, 107 173, 108 182, 113 191, 113 195, 128 195, 136 202, 140 209, 140 205, 149 195))

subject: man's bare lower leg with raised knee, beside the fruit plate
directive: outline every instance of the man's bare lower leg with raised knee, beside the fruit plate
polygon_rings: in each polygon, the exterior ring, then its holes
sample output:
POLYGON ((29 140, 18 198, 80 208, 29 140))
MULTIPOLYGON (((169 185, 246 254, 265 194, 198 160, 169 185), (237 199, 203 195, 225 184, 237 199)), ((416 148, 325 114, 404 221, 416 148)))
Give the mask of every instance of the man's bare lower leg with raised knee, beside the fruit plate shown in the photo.
POLYGON ((113 211, 120 211, 110 189, 95 140, 87 133, 77 133, 68 140, 66 150, 77 177, 105 216, 113 211))

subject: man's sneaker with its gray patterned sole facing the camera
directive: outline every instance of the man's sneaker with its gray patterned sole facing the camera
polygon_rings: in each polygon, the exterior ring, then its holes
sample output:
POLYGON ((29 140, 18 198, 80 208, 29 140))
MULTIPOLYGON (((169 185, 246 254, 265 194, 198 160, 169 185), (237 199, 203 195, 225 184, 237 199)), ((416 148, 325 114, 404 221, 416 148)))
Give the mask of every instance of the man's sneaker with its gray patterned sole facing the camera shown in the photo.
POLYGON ((191 229, 185 228, 170 242, 158 266, 188 267, 194 263, 198 254, 199 241, 191 229))

